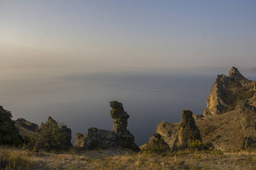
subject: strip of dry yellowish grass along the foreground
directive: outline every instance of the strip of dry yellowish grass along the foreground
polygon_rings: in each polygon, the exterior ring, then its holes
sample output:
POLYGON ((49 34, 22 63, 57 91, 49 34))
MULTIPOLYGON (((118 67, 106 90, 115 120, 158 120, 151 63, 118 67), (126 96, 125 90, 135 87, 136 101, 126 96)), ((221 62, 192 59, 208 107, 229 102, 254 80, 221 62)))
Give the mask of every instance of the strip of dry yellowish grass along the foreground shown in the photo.
POLYGON ((164 155, 148 151, 133 154, 122 150, 112 156, 110 152, 113 154, 111 150, 71 151, 71 154, 34 153, 20 148, 0 147, 0 169, 254 169, 256 166, 256 151, 251 150, 183 150, 164 155))

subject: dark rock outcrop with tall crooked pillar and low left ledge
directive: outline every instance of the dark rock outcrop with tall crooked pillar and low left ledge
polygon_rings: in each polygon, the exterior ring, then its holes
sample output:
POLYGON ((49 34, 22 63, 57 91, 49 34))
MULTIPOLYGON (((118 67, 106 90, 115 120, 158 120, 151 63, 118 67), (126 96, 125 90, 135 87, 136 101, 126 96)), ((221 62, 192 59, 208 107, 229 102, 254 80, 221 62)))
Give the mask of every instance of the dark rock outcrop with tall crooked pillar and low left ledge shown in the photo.
POLYGON ((139 147, 134 143, 134 136, 127 130, 127 120, 130 117, 118 101, 110 101, 110 115, 113 118, 113 131, 102 130, 97 128, 88 129, 87 134, 76 134, 76 147, 83 148, 109 148, 109 147, 125 147, 134 151, 140 151, 139 147))

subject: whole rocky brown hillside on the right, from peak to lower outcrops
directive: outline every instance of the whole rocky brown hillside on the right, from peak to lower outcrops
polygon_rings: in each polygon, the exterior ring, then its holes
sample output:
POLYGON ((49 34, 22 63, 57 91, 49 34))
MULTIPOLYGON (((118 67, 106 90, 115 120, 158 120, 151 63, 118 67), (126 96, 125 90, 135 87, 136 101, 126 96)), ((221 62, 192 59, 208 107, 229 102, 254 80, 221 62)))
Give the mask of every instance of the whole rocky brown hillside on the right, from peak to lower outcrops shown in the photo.
POLYGON ((147 145, 177 150, 197 140, 224 151, 256 148, 255 101, 255 81, 232 67, 228 76, 217 76, 204 116, 184 110, 179 123, 159 123, 147 145))

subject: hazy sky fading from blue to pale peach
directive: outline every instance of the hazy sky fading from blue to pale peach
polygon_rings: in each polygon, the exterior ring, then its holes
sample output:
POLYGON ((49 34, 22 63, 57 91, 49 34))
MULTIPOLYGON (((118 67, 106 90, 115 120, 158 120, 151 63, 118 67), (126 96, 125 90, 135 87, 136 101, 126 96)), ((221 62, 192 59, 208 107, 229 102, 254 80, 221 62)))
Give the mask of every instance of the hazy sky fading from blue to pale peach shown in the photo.
POLYGON ((256 1, 3 1, 0 66, 254 67, 256 1))

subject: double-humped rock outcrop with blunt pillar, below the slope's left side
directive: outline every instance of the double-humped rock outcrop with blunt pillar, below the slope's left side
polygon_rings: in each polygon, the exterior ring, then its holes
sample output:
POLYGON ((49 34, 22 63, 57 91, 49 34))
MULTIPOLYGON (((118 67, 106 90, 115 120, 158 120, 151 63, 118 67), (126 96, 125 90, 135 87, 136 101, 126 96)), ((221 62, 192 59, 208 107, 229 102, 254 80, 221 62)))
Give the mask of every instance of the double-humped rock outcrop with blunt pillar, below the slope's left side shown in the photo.
POLYGON ((164 141, 170 150, 179 150, 187 148, 190 142, 202 141, 200 131, 195 124, 192 114, 191 111, 184 109, 182 120, 179 124, 159 123, 156 128, 156 134, 150 138, 148 145, 159 145, 161 143, 164 146, 164 141), (160 141, 159 137, 163 141, 160 141))

